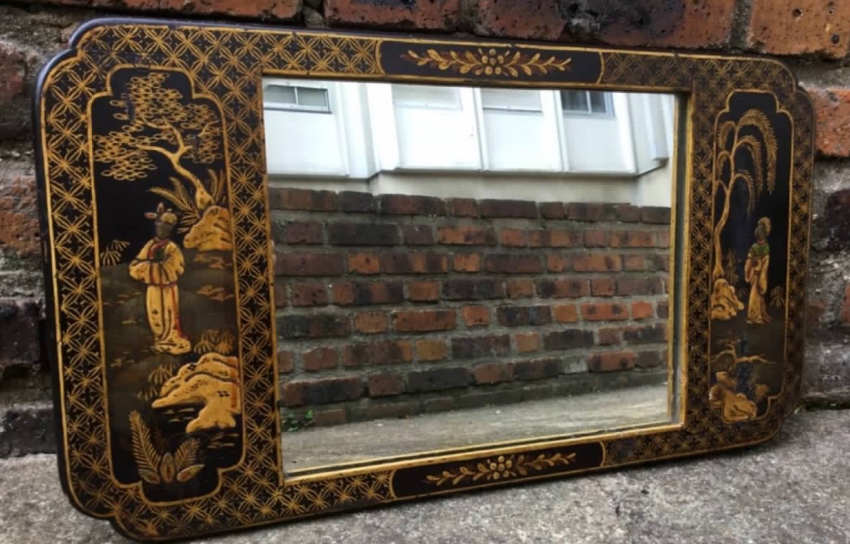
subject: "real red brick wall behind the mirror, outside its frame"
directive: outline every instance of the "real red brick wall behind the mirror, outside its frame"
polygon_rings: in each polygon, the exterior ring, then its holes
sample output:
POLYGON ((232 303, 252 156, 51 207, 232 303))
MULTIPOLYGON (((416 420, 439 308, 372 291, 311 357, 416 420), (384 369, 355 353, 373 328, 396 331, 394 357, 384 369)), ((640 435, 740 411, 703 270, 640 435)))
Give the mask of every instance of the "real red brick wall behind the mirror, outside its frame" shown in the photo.
POLYGON ((805 394, 810 402, 850 405, 850 3, 0 0, 0 340, 14 339, 0 342, 0 428, 6 429, 0 432, 0 456, 52 447, 49 438, 26 438, 51 433, 29 433, 12 423, 43 427, 49 415, 39 336, 43 291, 33 198, 32 89, 43 63, 65 48, 82 21, 116 14, 781 56, 813 94, 817 109, 805 394), (37 414, 20 416, 22 398, 38 401, 27 405, 37 406, 37 414))

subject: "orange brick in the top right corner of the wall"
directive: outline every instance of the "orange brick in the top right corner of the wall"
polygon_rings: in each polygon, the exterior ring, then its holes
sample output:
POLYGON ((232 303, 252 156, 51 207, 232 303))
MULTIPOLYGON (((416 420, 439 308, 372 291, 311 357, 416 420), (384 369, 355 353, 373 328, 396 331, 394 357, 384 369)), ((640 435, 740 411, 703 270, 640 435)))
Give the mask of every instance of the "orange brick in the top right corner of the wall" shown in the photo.
POLYGON ((754 0, 746 41, 767 54, 847 54, 850 4, 834 0, 754 0))

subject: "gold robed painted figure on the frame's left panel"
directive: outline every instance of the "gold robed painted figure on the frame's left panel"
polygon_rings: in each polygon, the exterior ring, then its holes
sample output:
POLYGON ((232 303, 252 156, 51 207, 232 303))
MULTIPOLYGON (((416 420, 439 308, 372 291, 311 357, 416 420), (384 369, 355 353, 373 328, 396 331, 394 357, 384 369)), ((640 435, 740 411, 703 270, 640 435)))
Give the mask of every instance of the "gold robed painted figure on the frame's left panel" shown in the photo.
POLYGON ((177 215, 160 204, 156 212, 145 213, 144 217, 154 220, 156 234, 130 263, 130 276, 148 286, 145 308, 154 333, 154 349, 166 354, 186 354, 191 345, 180 328, 177 286, 185 263, 180 247, 170 239, 177 215))

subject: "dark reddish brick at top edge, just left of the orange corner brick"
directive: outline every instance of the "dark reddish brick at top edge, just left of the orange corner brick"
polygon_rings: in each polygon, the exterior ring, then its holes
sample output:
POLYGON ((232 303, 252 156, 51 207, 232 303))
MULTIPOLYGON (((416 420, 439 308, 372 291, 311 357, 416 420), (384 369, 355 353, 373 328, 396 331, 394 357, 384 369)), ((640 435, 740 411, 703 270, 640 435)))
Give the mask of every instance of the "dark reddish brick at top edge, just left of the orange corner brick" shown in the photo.
MULTIPOLYGON (((731 37, 734 0, 656 2, 632 0, 609 3, 592 0, 578 4, 573 20, 596 25, 592 36, 626 47, 709 48, 725 45, 731 37)), ((582 27, 581 23, 579 24, 582 27)), ((587 38, 585 38, 587 39, 587 38)))

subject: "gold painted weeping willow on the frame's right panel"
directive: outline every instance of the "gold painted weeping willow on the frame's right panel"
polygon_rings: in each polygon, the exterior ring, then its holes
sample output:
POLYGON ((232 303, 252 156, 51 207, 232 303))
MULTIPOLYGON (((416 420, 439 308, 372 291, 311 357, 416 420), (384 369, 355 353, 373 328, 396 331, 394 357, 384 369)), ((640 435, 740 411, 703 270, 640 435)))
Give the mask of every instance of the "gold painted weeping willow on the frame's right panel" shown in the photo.
POLYGON ((745 190, 749 217, 763 190, 774 192, 778 145, 774 128, 762 111, 748 110, 736 121, 723 122, 717 128, 717 154, 711 201, 717 205, 723 195, 723 208, 714 226, 714 267, 711 271, 711 318, 730 320, 744 309, 723 271, 723 247, 720 237, 729 219, 729 208, 736 187, 745 190))

